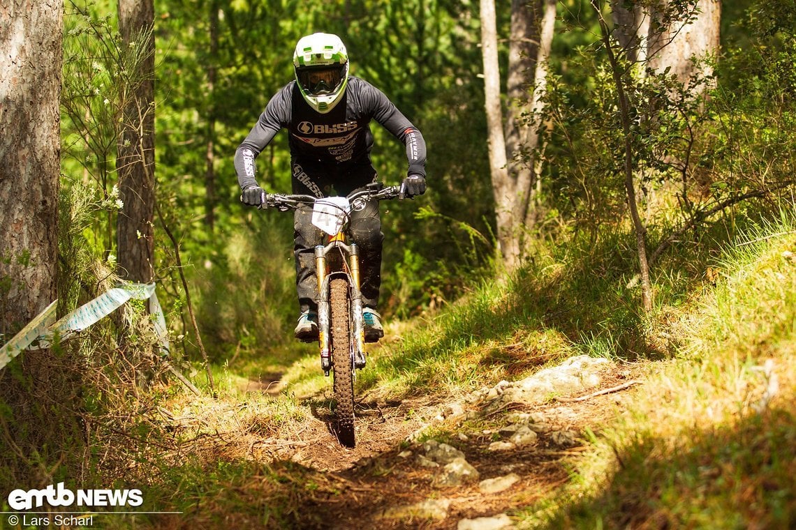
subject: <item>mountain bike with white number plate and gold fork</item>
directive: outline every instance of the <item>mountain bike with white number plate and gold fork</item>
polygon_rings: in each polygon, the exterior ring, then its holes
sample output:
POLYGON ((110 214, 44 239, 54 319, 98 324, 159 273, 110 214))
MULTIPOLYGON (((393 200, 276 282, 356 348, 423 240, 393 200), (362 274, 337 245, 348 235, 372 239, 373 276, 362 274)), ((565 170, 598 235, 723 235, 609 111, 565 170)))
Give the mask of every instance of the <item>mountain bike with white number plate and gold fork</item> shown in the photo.
POLYGON ((403 199, 404 190, 376 182, 345 197, 267 194, 265 203, 279 211, 312 205, 312 224, 328 234, 315 246, 318 279, 318 345, 321 369, 334 373, 333 393, 340 443, 354 447, 353 382, 365 368, 365 324, 362 318, 359 249, 349 243, 349 214, 369 200, 403 199))

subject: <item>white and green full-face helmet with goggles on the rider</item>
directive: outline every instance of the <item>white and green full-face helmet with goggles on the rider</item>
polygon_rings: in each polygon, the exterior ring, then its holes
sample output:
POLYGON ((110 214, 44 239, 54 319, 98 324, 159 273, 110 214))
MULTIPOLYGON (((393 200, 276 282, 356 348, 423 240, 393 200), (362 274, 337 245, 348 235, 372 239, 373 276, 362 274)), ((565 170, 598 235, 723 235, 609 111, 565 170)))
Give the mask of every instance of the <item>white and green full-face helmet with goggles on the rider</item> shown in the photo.
POLYGON ((326 114, 345 94, 348 52, 337 35, 313 33, 302 37, 293 53, 296 81, 306 103, 326 114))

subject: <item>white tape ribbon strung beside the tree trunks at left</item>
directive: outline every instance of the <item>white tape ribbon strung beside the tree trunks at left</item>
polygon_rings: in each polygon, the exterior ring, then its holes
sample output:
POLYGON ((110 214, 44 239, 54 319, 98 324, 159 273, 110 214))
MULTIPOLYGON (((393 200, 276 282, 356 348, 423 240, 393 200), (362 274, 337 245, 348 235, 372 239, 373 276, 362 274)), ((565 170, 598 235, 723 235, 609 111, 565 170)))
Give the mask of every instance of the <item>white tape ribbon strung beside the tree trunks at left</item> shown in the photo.
POLYGON ((39 342, 38 348, 49 347, 49 341, 57 334, 60 339, 65 339, 78 331, 83 331, 94 323, 110 315, 131 298, 136 300, 149 300, 149 311, 153 318, 154 330, 160 340, 160 345, 166 353, 169 351, 169 335, 166 331, 166 319, 158 303, 158 296, 154 292, 154 284, 133 284, 124 282, 121 287, 112 288, 97 296, 88 304, 84 304, 72 311, 58 322, 55 320, 55 306, 57 300, 41 311, 35 319, 14 335, 6 345, 0 348, 0 369, 6 366, 11 359, 21 351, 27 350, 33 342, 39 342))

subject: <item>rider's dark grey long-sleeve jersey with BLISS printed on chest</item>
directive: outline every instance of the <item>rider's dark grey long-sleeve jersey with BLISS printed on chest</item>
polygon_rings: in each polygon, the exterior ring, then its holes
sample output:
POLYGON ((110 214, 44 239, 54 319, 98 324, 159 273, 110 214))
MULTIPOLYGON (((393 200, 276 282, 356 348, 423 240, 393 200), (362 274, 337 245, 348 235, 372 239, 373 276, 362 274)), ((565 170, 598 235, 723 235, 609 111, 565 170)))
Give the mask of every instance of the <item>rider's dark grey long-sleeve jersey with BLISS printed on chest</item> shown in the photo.
POLYGON ((426 176, 426 142, 376 87, 363 79, 348 79, 341 102, 326 114, 315 111, 301 95, 295 81, 271 98, 263 114, 235 152, 235 171, 240 188, 256 185, 255 158, 280 129, 289 134, 291 157, 322 164, 369 164, 373 133, 369 123, 376 120, 406 146, 408 174, 426 176))

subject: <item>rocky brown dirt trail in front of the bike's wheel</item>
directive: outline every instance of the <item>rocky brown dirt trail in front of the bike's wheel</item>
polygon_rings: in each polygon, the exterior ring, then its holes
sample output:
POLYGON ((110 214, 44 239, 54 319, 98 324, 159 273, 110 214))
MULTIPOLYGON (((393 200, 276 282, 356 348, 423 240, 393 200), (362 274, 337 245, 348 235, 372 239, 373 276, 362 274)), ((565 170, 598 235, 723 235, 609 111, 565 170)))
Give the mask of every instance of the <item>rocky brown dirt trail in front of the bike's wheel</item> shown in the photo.
POLYGON ((297 439, 263 440, 253 456, 322 472, 300 501, 305 528, 513 528, 510 510, 567 482, 564 459, 583 451, 583 432, 599 432, 638 388, 634 367, 576 357, 454 403, 365 397, 356 448, 319 413, 297 439))

